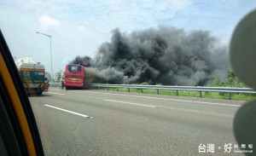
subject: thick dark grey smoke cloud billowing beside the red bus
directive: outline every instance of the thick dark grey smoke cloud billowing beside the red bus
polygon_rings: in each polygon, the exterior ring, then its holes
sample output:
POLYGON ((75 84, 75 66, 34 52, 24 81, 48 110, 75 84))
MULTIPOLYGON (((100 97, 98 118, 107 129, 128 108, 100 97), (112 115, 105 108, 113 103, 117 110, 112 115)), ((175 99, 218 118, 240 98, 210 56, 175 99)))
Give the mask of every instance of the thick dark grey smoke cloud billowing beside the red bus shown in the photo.
POLYGON ((230 70, 227 48, 207 31, 159 26, 112 33, 94 59, 77 56, 71 61, 86 66, 88 83, 205 85, 230 70))

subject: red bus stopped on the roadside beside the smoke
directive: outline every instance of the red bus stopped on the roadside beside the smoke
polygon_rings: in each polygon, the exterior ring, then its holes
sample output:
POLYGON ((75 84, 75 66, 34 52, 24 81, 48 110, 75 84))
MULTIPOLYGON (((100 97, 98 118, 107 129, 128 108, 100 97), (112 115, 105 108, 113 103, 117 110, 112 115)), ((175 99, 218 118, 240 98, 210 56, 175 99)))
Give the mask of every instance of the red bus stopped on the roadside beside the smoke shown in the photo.
POLYGON ((70 88, 84 87, 84 66, 67 64, 64 72, 64 86, 70 88))

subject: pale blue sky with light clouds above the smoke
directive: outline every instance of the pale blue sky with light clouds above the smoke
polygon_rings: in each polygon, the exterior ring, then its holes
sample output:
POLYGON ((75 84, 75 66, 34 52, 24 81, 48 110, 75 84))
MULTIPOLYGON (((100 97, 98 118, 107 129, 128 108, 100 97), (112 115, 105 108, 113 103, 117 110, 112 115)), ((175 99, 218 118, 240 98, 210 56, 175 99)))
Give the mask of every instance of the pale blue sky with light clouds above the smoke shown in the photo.
POLYGON ((77 55, 94 57, 112 30, 132 32, 175 26, 207 30, 229 45, 241 18, 256 9, 252 0, 4 0, 0 29, 15 60, 32 57, 50 72, 64 70, 77 55))

